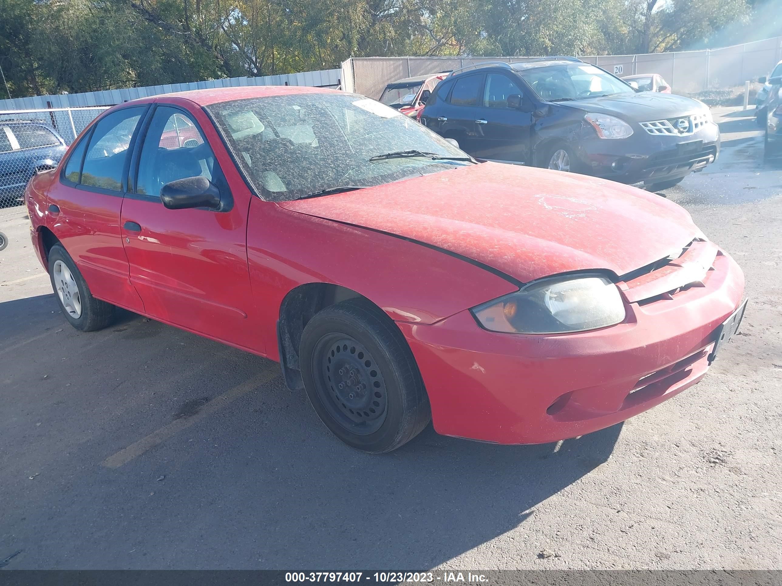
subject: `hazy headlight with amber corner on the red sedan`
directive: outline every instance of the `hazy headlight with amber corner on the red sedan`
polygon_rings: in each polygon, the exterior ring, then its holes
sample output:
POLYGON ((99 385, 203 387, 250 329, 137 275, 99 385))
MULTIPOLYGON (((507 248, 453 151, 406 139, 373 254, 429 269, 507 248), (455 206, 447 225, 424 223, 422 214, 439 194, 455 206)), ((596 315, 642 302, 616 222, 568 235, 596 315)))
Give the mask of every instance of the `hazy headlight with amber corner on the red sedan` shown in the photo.
POLYGON ((486 330, 563 334, 625 319, 619 289, 604 277, 546 279, 472 309, 486 330))

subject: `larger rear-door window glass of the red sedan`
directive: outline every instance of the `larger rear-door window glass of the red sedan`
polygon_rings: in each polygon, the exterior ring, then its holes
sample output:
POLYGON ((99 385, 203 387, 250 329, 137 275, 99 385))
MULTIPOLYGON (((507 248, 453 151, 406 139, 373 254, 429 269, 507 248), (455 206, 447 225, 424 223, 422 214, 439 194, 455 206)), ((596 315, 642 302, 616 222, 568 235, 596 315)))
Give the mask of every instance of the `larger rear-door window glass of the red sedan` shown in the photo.
POLYGON ((99 121, 84 158, 81 184, 122 191, 122 171, 127 158, 127 148, 131 145, 131 138, 142 113, 143 107, 124 108, 99 121))

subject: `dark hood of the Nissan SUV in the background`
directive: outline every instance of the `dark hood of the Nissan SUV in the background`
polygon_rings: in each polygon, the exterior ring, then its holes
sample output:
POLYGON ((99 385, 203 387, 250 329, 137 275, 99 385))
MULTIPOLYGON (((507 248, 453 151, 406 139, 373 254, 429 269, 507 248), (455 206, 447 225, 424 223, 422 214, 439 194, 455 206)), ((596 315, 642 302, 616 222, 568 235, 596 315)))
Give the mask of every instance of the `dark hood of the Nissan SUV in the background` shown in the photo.
POLYGON ((628 122, 666 120, 701 112, 705 105, 683 95, 641 91, 637 94, 607 95, 604 98, 587 98, 574 102, 557 102, 568 108, 612 114, 628 122))

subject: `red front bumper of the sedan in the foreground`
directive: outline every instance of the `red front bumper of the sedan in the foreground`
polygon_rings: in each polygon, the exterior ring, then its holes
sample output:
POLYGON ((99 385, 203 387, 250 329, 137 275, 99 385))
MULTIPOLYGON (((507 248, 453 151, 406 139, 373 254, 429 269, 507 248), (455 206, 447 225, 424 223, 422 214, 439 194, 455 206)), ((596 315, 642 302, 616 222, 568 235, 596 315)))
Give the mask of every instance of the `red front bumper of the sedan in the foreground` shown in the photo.
POLYGON ((574 438, 637 415, 697 383, 715 330, 741 302, 744 274, 720 254, 705 286, 627 304, 622 323, 580 334, 482 330, 469 311, 399 323, 439 434, 500 444, 574 438))

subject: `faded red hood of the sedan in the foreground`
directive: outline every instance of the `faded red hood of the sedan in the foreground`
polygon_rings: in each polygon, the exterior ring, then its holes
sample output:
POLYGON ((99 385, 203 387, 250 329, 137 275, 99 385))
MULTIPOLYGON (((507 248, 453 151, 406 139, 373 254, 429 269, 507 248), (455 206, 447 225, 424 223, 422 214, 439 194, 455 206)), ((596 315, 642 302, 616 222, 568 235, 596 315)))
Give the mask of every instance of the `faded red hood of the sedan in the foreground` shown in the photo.
POLYGON ((573 270, 622 275, 698 234, 690 214, 659 195, 501 163, 278 205, 436 246, 522 282, 573 270))

